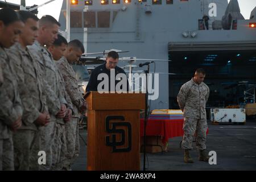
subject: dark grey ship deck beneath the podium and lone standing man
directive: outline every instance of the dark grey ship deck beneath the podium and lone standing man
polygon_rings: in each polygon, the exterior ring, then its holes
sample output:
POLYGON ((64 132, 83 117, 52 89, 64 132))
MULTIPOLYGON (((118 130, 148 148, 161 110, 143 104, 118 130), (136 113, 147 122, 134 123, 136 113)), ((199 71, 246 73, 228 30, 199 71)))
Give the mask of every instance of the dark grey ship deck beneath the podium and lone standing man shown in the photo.
MULTIPOLYGON (((197 160, 198 152, 191 156, 195 163, 183 162, 183 150, 179 144, 182 137, 168 140, 168 151, 146 154, 146 170, 148 171, 226 171, 256 169, 256 120, 246 121, 245 125, 213 125, 208 122, 207 151, 216 151, 217 164, 197 160)), ((80 130, 81 137, 86 141, 86 130, 80 130)), ((73 171, 86 170, 87 147, 80 138, 80 156, 72 166, 73 171)), ((143 153, 141 153, 141 169, 143 169, 143 153)))

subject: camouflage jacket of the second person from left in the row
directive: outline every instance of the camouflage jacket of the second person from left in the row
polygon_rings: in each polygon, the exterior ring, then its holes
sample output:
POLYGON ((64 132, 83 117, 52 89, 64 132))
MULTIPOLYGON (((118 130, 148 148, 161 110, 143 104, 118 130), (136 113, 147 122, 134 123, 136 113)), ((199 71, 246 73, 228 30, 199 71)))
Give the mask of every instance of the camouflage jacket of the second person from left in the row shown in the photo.
POLYGON ((38 62, 33 59, 27 48, 24 49, 16 43, 8 49, 7 53, 15 69, 19 82, 19 95, 23 104, 23 126, 20 129, 37 130, 34 121, 40 113, 48 113, 47 96, 51 106, 55 105, 57 98, 44 80, 38 62))

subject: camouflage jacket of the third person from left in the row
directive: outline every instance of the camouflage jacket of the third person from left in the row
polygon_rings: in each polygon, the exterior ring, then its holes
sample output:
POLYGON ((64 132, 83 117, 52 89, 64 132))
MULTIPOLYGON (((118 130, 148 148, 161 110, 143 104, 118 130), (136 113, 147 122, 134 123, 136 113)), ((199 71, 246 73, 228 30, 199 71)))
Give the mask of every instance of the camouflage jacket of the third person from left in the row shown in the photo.
POLYGON ((55 116, 60 110, 60 104, 67 104, 67 101, 61 94, 60 77, 57 72, 56 64, 51 53, 49 53, 46 48, 41 46, 38 41, 35 41, 32 46, 28 46, 28 49, 32 53, 32 56, 34 56, 38 61, 40 69, 43 71, 44 78, 48 82, 48 85, 53 90, 56 97, 59 98, 59 100, 56 100, 55 107, 49 105, 47 99, 49 113, 55 116))

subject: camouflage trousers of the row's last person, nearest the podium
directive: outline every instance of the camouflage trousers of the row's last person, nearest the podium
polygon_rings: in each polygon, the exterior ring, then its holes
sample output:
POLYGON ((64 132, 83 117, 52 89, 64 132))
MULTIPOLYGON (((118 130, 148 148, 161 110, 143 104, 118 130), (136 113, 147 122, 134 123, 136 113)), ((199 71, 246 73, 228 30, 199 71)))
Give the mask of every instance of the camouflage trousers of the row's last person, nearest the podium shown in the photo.
POLYGON ((71 121, 65 124, 66 139, 67 139, 67 160, 65 160, 65 168, 68 168, 74 160, 79 156, 79 118, 72 118, 71 121))

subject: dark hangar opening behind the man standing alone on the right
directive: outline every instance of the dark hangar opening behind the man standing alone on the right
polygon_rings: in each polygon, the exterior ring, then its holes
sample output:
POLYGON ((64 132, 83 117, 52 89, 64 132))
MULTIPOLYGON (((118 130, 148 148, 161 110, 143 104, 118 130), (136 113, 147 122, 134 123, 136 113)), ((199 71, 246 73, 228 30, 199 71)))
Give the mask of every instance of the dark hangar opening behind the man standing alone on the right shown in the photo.
POLYGON ((207 107, 226 107, 255 102, 245 92, 256 88, 256 42, 169 43, 169 103, 179 109, 176 96, 181 85, 204 68, 210 88, 207 107))

